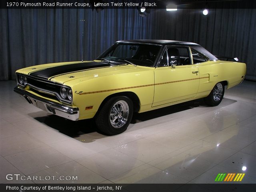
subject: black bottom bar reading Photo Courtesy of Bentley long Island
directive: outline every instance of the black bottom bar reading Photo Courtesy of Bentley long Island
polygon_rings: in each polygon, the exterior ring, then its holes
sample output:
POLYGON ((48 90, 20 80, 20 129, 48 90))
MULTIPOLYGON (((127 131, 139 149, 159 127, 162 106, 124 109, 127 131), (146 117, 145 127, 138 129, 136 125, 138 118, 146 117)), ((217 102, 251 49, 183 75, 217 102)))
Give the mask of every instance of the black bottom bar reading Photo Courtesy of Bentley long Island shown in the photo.
POLYGON ((0 184, 1 192, 255 192, 256 184, 0 184))

